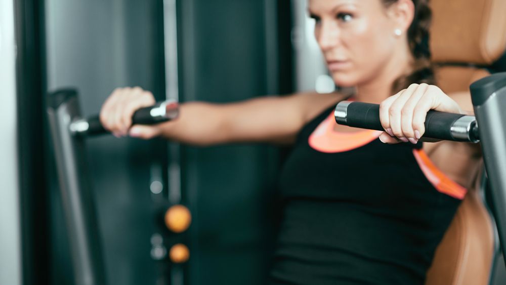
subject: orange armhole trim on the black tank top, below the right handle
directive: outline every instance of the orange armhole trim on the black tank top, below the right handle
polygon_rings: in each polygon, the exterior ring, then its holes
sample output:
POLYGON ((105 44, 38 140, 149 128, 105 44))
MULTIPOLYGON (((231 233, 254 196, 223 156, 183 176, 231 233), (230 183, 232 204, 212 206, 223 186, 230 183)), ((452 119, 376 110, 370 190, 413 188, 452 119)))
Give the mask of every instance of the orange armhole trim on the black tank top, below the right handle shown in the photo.
POLYGON ((439 192, 460 200, 466 196, 468 190, 440 171, 423 149, 413 149, 413 155, 425 177, 439 192))

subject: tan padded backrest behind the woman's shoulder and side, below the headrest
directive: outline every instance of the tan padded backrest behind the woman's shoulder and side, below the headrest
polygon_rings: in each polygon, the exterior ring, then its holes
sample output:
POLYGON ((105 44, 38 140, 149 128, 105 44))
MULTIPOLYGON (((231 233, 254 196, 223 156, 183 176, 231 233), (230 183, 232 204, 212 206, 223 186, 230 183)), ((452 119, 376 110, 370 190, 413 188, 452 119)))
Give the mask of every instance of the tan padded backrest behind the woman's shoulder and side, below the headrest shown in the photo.
MULTIPOLYGON (((438 86, 450 96, 467 91, 471 83, 486 75, 486 70, 470 67, 444 67, 436 72, 438 86)), ((426 285, 489 283, 495 233, 478 187, 468 191, 458 208, 436 250, 426 285)))

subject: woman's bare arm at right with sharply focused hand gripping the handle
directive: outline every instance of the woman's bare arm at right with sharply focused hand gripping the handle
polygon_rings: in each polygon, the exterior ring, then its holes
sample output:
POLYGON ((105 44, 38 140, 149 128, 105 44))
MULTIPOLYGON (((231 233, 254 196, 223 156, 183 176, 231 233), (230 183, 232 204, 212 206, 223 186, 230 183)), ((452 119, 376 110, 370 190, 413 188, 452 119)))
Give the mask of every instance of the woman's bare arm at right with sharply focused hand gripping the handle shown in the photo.
MULTIPOLYGON (((416 143, 425 133, 425 118, 429 110, 473 115, 471 96, 467 92, 446 95, 433 85, 413 84, 380 104, 379 116, 386 132, 380 140, 385 143, 401 141, 416 143)), ((479 144, 440 141, 424 144, 443 173, 465 186, 473 187, 481 166, 479 144)))

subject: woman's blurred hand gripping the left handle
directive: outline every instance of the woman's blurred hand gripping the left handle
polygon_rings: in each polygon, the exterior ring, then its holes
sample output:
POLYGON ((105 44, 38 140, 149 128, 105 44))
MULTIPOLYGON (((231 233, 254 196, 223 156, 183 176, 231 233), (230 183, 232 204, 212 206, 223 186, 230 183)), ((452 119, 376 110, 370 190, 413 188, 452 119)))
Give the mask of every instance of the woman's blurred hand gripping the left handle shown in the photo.
POLYGON ((132 126, 135 111, 154 104, 153 94, 140 87, 116 88, 102 105, 100 123, 116 137, 129 135, 150 139, 159 136, 158 126, 132 126))

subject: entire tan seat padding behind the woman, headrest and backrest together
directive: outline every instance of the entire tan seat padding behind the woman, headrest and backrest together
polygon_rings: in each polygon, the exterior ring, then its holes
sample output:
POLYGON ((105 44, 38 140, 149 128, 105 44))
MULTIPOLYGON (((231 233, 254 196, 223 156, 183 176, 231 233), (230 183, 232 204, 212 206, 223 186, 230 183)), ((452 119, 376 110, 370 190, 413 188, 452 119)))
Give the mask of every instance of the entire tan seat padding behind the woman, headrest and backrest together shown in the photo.
MULTIPOLYGON (((431 0, 431 52, 435 63, 488 65, 506 49, 506 0, 431 0)), ((448 95, 469 92, 484 69, 445 66, 438 86, 448 95)), ((475 187, 478 188, 478 187, 475 187)), ((426 285, 486 285, 495 233, 477 189, 471 189, 438 246, 426 285)))

